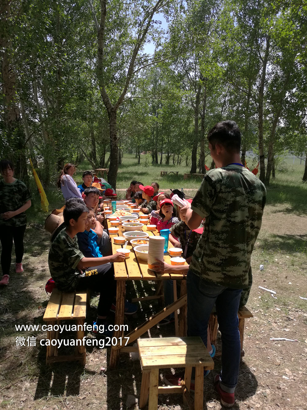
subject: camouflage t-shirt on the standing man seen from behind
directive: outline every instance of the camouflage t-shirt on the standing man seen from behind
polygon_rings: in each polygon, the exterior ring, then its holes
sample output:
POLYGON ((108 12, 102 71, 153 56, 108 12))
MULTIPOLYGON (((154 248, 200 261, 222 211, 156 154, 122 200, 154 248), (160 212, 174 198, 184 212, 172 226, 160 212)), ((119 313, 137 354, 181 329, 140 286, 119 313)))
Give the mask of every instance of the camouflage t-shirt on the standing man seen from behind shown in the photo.
POLYGON ((248 169, 230 164, 209 171, 192 202, 205 229, 190 268, 205 280, 248 287, 251 253, 260 231, 266 189, 248 169))

